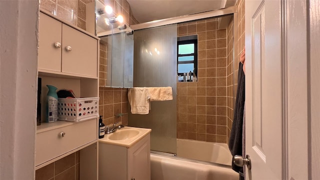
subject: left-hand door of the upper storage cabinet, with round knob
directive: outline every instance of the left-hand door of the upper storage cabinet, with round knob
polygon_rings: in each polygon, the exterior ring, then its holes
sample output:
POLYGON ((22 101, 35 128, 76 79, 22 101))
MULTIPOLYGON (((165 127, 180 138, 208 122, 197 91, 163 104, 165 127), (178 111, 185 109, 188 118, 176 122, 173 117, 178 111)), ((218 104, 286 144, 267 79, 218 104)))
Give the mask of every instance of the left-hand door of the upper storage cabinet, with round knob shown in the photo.
POLYGON ((61 25, 52 17, 40 13, 38 68, 61 71, 61 25))

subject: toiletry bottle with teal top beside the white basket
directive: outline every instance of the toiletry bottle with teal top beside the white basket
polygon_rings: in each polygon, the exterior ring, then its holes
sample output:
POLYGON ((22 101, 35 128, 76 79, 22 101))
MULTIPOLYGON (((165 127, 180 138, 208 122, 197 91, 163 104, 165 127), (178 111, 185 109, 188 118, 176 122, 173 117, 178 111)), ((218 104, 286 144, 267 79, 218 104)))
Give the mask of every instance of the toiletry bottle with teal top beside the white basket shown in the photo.
POLYGON ((46 122, 55 122, 58 120, 58 95, 56 94, 56 87, 53 85, 46 85, 49 89, 46 94, 46 122))

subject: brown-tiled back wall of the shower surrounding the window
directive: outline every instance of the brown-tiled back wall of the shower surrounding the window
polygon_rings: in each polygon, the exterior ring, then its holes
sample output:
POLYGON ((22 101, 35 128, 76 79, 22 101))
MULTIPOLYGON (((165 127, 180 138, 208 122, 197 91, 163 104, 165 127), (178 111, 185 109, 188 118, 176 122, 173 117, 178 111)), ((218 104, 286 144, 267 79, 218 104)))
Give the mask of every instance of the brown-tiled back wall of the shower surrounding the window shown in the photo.
POLYGON ((215 18, 178 24, 198 35, 198 81, 177 83, 177 138, 226 143, 227 38, 215 18))

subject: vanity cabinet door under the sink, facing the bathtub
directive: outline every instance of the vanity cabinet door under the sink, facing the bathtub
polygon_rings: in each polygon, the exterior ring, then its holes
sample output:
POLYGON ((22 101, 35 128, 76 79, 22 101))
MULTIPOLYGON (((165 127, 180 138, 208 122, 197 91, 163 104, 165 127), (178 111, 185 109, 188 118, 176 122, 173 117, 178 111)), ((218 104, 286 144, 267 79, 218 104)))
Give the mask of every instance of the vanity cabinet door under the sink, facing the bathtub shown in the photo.
POLYGON ((150 134, 128 148, 128 180, 150 180, 150 134))

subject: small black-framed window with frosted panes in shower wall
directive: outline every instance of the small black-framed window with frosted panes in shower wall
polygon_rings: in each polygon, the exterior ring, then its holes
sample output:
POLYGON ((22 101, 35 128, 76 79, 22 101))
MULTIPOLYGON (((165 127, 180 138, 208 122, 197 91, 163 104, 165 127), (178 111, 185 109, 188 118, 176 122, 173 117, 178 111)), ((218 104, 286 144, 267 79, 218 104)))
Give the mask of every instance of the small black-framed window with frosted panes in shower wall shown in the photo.
POLYGON ((177 74, 190 72, 196 76, 197 72, 197 35, 177 38, 177 74))

